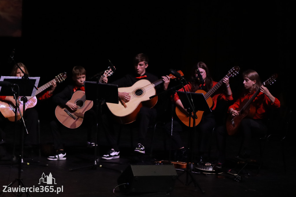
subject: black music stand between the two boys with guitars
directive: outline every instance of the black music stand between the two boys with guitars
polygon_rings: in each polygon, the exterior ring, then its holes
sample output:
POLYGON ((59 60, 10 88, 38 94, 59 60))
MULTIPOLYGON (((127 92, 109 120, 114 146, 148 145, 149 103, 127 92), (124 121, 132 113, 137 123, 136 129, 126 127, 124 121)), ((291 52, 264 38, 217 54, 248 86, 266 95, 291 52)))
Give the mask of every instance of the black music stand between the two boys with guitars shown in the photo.
MULTIPOLYGON (((97 145, 97 138, 99 136, 99 123, 102 122, 102 105, 105 102, 108 103, 116 103, 118 104, 118 85, 113 84, 107 84, 107 83, 97 83, 94 81, 85 81, 85 96, 86 100, 94 101, 94 107, 95 107, 95 113, 96 113, 96 134, 95 134, 95 148, 94 148, 94 161, 92 165, 76 168, 76 169, 69 169, 70 171, 78 170, 78 169, 84 169, 84 168, 90 168, 90 169, 96 169, 97 166, 106 168, 106 169, 112 169, 105 166, 102 166, 100 164, 100 159, 97 158, 97 152, 99 152, 99 149, 97 151, 97 148, 99 148, 99 145, 97 145), (98 122, 99 121, 99 122, 98 122)), ((112 169, 116 170, 116 169, 112 169)), ((118 172, 122 172, 120 170, 116 170, 118 172)))

